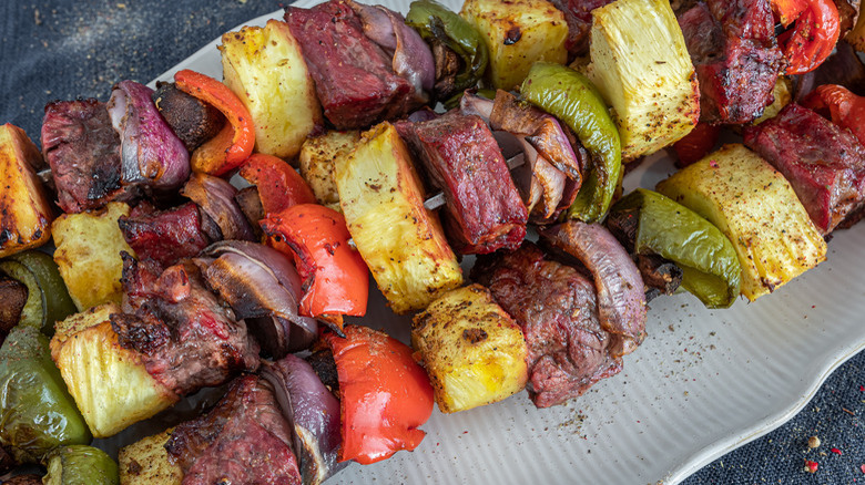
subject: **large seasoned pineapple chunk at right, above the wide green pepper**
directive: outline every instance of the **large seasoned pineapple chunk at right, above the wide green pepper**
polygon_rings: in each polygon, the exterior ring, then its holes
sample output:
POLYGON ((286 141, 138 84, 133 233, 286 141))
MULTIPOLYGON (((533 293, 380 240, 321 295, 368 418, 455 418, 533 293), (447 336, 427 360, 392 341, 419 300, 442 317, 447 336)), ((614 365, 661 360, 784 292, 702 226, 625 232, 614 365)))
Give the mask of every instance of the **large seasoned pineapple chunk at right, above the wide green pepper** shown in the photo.
POLYGON ((790 183, 744 145, 725 145, 658 184, 658 192, 718 226, 754 301, 826 259, 826 242, 790 183))

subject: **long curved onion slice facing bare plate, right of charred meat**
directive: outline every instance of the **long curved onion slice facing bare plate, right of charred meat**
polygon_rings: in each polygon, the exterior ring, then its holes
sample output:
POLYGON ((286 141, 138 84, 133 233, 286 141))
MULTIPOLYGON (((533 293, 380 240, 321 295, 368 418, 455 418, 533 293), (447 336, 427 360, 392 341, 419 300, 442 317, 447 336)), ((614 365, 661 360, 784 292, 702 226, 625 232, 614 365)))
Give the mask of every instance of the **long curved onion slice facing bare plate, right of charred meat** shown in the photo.
POLYGON ((628 251, 599 224, 569 220, 539 233, 593 275, 601 327, 615 337, 611 354, 633 352, 645 338, 645 289, 628 251))

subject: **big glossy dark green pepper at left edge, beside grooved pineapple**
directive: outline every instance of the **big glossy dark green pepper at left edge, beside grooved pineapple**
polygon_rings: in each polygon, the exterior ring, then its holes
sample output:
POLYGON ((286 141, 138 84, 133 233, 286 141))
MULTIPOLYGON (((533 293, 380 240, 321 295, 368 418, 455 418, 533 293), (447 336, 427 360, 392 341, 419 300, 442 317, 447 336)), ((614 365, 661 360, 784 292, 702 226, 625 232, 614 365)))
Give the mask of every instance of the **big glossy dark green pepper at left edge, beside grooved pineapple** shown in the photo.
POLYGON ((0 348, 0 444, 17 461, 37 463, 59 445, 90 440, 48 338, 33 327, 13 328, 0 348))

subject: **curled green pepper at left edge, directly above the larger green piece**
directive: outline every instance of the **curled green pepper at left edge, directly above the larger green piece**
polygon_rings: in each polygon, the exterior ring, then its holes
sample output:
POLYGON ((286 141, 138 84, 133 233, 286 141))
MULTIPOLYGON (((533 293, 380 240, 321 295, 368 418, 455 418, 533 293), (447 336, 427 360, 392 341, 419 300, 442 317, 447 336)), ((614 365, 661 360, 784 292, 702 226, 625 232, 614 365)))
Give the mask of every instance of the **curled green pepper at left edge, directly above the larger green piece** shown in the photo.
POLYGON ((0 261, 0 270, 27 286, 28 297, 19 324, 54 334, 54 322, 77 311, 51 256, 29 250, 0 261))

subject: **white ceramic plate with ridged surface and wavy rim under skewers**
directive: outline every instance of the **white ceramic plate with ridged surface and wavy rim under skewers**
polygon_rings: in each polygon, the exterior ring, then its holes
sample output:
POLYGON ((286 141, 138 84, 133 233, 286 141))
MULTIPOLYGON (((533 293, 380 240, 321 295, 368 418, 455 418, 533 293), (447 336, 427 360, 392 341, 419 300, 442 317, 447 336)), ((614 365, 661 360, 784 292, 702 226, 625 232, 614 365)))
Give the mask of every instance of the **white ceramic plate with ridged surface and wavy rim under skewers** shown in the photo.
MULTIPOLYGON (((404 13, 409 3, 377 2, 404 13)), ((217 43, 160 80, 186 68, 221 79, 217 43)), ((653 158, 629 174, 625 189, 651 188, 672 172, 663 156, 653 158)), ((583 396, 537 410, 523 392, 454 415, 436 411, 414 453, 353 464, 328 483, 678 483, 792 417, 865 345, 863 244, 865 224, 839 231, 826 262, 754 303, 710 311, 690 295, 652 301, 645 343, 624 359, 623 372, 583 396)), ((409 320, 380 296, 364 321, 407 340, 409 320)))

